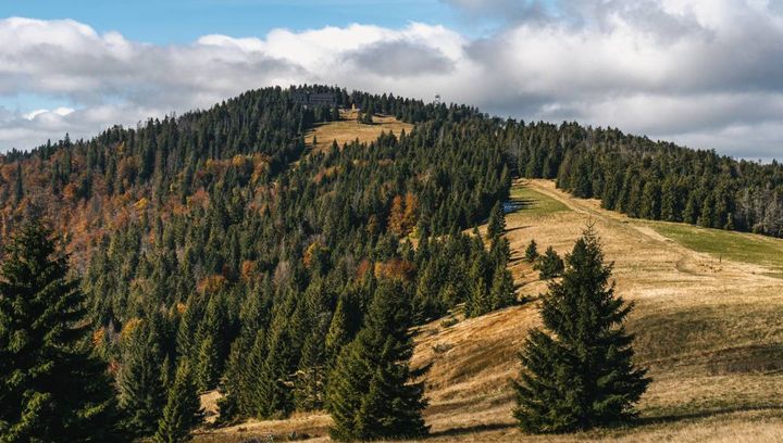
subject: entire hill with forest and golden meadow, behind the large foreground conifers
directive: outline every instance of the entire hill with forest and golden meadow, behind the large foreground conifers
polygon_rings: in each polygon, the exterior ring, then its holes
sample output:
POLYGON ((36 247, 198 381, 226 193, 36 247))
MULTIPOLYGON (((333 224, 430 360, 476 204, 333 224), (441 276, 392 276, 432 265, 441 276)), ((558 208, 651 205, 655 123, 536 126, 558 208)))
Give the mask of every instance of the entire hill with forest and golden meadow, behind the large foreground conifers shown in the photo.
POLYGON ((700 427, 721 417, 778 423, 782 342, 769 325, 783 263, 770 255, 782 189, 776 163, 616 129, 266 88, 7 153, 0 238, 28 218, 62 236, 91 347, 140 436, 157 429, 184 360, 198 391, 222 398, 221 426, 241 423, 203 439, 324 435, 328 375, 394 280, 413 369, 430 367, 412 371, 431 398, 424 417, 448 441, 518 436, 507 381, 546 290, 524 249, 535 239, 562 254, 593 220, 618 293, 637 303, 629 328, 655 381, 642 428, 585 438, 656 440, 711 432, 700 427), (487 239, 493 207, 512 211, 508 243, 487 239), (258 421, 269 419, 288 420, 258 421))

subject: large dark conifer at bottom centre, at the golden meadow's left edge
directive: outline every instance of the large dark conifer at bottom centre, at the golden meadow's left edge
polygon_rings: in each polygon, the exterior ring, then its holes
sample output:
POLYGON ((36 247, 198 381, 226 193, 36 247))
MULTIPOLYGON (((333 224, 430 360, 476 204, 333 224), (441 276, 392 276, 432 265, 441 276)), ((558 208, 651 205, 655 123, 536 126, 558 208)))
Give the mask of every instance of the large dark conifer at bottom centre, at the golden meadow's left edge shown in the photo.
POLYGON ((399 282, 384 281, 365 326, 344 347, 330 376, 330 433, 341 441, 413 439, 427 433, 422 383, 410 383, 410 306, 399 282))

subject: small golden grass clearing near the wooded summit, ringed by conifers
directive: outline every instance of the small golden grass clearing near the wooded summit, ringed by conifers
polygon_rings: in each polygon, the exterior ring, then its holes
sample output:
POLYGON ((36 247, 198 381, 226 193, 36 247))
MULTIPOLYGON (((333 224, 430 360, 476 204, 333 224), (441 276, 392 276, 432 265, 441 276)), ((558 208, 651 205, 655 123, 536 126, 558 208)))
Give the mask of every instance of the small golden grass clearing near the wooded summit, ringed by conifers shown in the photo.
POLYGON ((413 129, 413 125, 399 122, 389 115, 373 116, 372 125, 359 123, 356 111, 340 111, 340 118, 339 122, 316 125, 315 129, 306 135, 304 141, 308 145, 312 145, 313 137, 315 138, 316 144, 313 147, 313 152, 330 149, 333 141, 337 141, 337 144, 343 148, 343 144, 351 143, 357 139, 361 143, 375 141, 382 131, 390 131, 399 136, 402 130, 410 134, 413 129))

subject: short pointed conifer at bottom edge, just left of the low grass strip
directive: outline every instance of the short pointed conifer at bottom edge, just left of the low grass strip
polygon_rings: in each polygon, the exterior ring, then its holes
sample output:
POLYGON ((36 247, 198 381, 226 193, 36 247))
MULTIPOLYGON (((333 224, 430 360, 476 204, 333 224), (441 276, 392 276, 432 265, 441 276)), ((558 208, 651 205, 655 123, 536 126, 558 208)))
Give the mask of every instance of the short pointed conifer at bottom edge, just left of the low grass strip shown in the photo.
POLYGON ((190 430, 201 421, 201 403, 190 365, 183 359, 169 389, 163 416, 154 434, 157 443, 178 443, 189 439, 190 430))

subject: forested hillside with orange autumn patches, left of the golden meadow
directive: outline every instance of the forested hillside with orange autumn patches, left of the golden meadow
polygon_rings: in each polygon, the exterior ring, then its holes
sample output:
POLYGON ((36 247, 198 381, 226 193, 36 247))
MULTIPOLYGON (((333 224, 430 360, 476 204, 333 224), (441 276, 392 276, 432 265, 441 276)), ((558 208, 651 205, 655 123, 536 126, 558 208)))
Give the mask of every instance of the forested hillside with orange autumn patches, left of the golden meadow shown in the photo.
POLYGON ((410 302, 403 334, 459 303, 481 315, 513 302, 508 243, 461 233, 508 197, 498 122, 307 89, 415 129, 303 155, 304 134, 338 110, 271 88, 3 157, 3 237, 25 218, 65 236, 128 433, 152 435, 188 377, 221 388, 224 420, 322 408, 378 287, 410 302))

